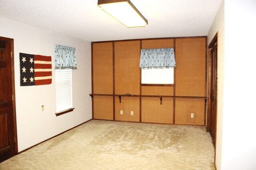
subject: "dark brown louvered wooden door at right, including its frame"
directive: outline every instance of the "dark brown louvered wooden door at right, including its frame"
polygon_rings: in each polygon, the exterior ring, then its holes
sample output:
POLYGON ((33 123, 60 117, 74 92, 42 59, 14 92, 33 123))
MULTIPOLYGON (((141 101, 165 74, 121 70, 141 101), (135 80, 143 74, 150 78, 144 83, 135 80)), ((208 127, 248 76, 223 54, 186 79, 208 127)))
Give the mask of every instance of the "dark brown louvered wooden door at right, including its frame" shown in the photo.
MULTIPOLYGON (((216 34, 217 35, 217 34, 216 34)), ((208 117, 207 131, 210 132, 214 147, 216 146, 216 123, 217 123, 217 67, 218 67, 218 46, 217 36, 209 45, 208 64, 208 117)))

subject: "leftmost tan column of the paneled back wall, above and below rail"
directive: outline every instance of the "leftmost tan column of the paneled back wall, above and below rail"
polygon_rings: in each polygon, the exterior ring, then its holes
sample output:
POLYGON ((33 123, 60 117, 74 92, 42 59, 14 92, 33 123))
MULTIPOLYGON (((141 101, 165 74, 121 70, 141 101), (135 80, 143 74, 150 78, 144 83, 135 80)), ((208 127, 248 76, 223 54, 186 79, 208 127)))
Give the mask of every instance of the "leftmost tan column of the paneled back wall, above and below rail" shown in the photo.
MULTIPOLYGON (((92 49, 94 94, 113 94, 113 43, 96 43, 92 49)), ((113 97, 94 96, 93 118, 113 120, 113 97)))

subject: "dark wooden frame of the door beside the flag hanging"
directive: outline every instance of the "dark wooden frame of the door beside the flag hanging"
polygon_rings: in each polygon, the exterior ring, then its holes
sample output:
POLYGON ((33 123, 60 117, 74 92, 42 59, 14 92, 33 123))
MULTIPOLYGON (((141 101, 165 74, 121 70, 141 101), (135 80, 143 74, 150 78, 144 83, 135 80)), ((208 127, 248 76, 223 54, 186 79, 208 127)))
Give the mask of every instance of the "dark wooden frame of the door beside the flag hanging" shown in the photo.
MULTIPOLYGON (((17 123, 16 123, 16 98, 15 98, 15 79, 14 79, 14 39, 0 37, 0 40, 9 41, 11 45, 11 74, 12 74, 12 115, 13 115, 13 131, 14 131, 14 155, 18 154, 18 138, 17 138, 17 123)), ((14 156, 13 155, 13 156, 14 156)))

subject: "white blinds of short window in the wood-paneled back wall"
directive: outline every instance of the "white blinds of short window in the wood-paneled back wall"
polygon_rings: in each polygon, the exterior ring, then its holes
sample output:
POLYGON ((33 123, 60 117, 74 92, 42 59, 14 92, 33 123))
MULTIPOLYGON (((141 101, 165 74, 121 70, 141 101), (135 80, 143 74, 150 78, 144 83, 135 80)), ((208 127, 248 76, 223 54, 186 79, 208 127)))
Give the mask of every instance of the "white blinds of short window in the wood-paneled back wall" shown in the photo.
POLYGON ((142 84, 173 84, 174 68, 141 69, 142 84))

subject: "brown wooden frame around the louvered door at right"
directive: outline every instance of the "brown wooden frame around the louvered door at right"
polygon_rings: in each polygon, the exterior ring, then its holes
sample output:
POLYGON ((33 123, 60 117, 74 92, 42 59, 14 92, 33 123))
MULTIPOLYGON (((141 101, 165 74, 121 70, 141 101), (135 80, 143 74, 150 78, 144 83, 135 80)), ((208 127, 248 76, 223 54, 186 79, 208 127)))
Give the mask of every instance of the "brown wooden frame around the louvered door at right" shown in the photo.
MULTIPOLYGON (((210 76, 210 72, 211 72, 211 48, 212 46, 217 43, 217 48, 218 48, 218 32, 214 35, 212 41, 210 42, 209 46, 208 46, 208 93, 207 93, 207 123, 206 123, 206 131, 209 132, 210 130, 210 109, 211 109, 211 76, 210 76)), ((217 55, 218 55, 218 49, 217 49, 217 55)), ((218 84, 217 84, 218 86, 218 84)), ((218 89, 218 87, 217 87, 218 89)), ((218 93, 217 93, 217 96, 216 96, 216 100, 217 100, 217 103, 218 103, 218 93)), ((217 104, 216 103, 216 104, 217 104)), ((216 126, 215 126, 215 133, 217 134, 217 117, 218 117, 218 105, 216 106, 216 126)), ((214 143, 214 150, 216 150, 216 135, 215 134, 215 143, 214 143)))

